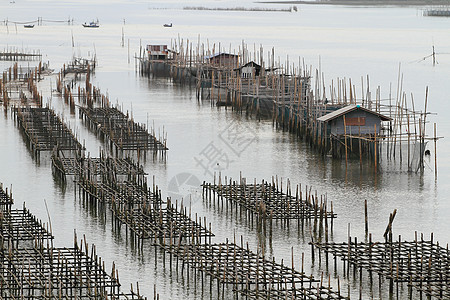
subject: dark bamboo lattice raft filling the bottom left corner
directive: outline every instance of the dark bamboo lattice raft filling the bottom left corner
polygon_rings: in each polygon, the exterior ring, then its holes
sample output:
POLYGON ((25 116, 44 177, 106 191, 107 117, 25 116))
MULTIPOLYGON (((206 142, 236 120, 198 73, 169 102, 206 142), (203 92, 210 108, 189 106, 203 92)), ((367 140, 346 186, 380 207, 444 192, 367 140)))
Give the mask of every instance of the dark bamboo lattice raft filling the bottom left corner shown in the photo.
POLYGON ((3 299, 144 299, 120 292, 116 272, 109 274, 95 250, 89 255, 82 245, 6 255, 1 265, 3 299))

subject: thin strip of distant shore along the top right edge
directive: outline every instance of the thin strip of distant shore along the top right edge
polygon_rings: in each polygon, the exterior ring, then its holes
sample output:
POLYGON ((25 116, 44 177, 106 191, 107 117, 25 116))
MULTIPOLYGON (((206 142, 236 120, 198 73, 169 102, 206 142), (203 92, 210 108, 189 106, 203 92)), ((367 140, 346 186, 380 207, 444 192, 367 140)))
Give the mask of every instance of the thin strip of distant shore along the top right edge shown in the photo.
POLYGON ((420 1, 420 0, 326 0, 326 1, 256 1, 265 4, 314 4, 314 5, 355 5, 355 6, 449 6, 450 2, 445 0, 420 1))

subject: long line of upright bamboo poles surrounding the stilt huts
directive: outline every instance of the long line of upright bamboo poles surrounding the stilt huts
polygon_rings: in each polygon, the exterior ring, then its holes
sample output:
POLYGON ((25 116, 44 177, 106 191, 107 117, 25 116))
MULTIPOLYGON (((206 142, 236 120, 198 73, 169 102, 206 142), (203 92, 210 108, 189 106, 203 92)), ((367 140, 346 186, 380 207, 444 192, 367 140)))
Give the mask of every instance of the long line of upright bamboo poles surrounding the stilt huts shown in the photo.
MULTIPOLYGON (((320 70, 313 72, 304 62, 295 64, 289 58, 282 64, 276 60, 273 48, 266 61, 262 46, 254 46, 251 51, 243 43, 238 50, 232 50, 230 45, 228 53, 225 51, 220 43, 212 49, 209 43, 200 43, 200 37, 197 45, 179 38, 172 40, 166 59, 151 59, 143 51, 137 59, 142 74, 156 76, 163 70, 174 81, 194 84, 199 101, 210 99, 212 105, 231 106, 239 113, 255 114, 258 119, 271 117, 274 126, 297 134, 322 155, 345 157, 346 165, 349 159, 359 158, 361 168, 362 161, 367 160, 377 169, 385 155, 386 164, 396 161, 400 166, 406 164, 409 172, 423 171, 426 143, 440 139, 436 132, 432 135, 426 130, 431 114, 427 110, 428 88, 424 110, 416 109, 413 96, 409 100, 403 91, 400 69, 396 96, 390 87, 389 96, 383 98, 380 86, 371 90, 368 76, 361 77, 358 95, 355 81, 337 78, 326 86, 320 70), (227 57, 214 59, 221 54, 227 57), (259 74, 256 69, 242 73, 249 63, 259 65, 259 74), (390 121, 371 128, 371 134, 361 133, 358 128, 355 131, 350 122, 344 123, 345 132, 336 135, 330 133, 330 124, 318 120, 349 105, 386 116, 390 121)), ((437 173, 436 163, 435 169, 437 173)))

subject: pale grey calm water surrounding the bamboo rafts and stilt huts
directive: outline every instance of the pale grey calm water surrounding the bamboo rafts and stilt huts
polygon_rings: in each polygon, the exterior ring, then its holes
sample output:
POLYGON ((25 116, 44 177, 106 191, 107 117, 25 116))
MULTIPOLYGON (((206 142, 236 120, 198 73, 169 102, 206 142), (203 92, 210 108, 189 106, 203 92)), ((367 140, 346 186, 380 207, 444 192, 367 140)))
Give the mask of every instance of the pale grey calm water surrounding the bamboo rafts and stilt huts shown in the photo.
MULTIPOLYGON (((251 1, 194 1, 189 6, 273 7, 251 1)), ((92 80, 113 103, 118 103, 133 118, 167 133, 169 151, 166 159, 149 155, 144 163, 149 180, 161 188, 163 196, 190 202, 191 210, 212 223, 215 241, 232 240, 243 235, 257 251, 265 245, 268 255, 290 261, 291 249, 296 266, 305 253, 307 271, 320 277, 323 265, 311 261, 309 232, 298 232, 280 224, 274 226, 272 240, 245 220, 230 216, 226 210, 205 205, 201 189, 190 183, 212 181, 213 174, 238 179, 242 176, 271 179, 277 175, 283 182, 312 187, 333 201, 338 217, 332 239, 344 242, 351 235, 364 239, 364 200, 368 202, 369 229, 374 240, 382 240, 389 214, 397 209, 394 236, 412 240, 414 232, 426 237, 433 232, 435 240, 450 242, 450 172, 447 149, 450 132, 450 19, 422 16, 423 7, 399 6, 328 6, 297 5, 298 12, 189 11, 181 1, 3 1, 0 3, 0 49, 16 47, 40 50, 43 61, 58 72, 73 56, 93 57, 98 67, 92 80), (23 28, 13 22, 31 22, 42 17, 43 25, 23 28), (67 20, 73 20, 68 25, 67 20), (100 27, 83 28, 84 22, 99 19, 100 27), (3 22, 8 20, 8 22, 3 22), (54 22, 63 21, 63 22, 54 22), (173 23, 172 28, 164 28, 173 23), (122 44, 122 32, 124 39, 122 44), (395 98, 399 68, 402 89, 413 94, 416 108, 423 109, 428 86, 427 131, 432 135, 437 123, 438 175, 434 170, 434 146, 429 143, 431 158, 426 158, 423 173, 409 173, 407 168, 385 165, 375 172, 369 164, 359 169, 359 161, 345 163, 323 158, 295 135, 272 126, 271 120, 257 120, 230 109, 212 107, 209 100, 197 101, 195 90, 168 78, 143 77, 137 72, 133 56, 146 44, 171 44, 173 40, 200 40, 205 45, 220 43, 225 49, 237 49, 243 41, 249 49, 275 48, 280 61, 305 61, 311 69, 320 69, 326 85, 337 78, 351 78, 361 90, 361 77, 370 77, 370 87, 380 86, 382 98, 395 98), (72 45, 73 41, 73 45, 72 45), (253 46, 255 45, 255 46, 253 46), (430 58, 432 46, 437 64, 430 58), (229 134, 239 128, 248 143, 236 148, 229 134), (210 152, 213 151, 214 152, 210 152), (214 153, 213 161, 208 154, 214 153), (219 164, 217 164, 219 163, 219 164), (189 178, 191 181, 185 182, 189 178)), ((22 63, 28 64, 27 62, 22 63)), ((11 65, 0 62, 1 70, 11 65)), ((69 114, 69 108, 55 94, 55 77, 40 83, 44 102, 60 114, 86 145, 91 156, 97 156, 102 142, 69 114)), ((327 91, 328 93, 328 91, 327 91)), ((391 162, 398 165, 399 162, 391 162)), ((84 207, 75 198, 74 184, 62 186, 51 172, 45 154, 33 158, 9 113, 0 114, 0 182, 13 187, 17 206, 24 202, 33 214, 52 224, 57 246, 70 246, 73 233, 86 236, 96 244, 97 252, 107 263, 116 263, 124 289, 139 282, 141 292, 149 298, 154 286, 162 299, 206 299, 209 289, 186 281, 175 271, 164 268, 161 256, 146 246, 140 254, 125 235, 113 233, 110 215, 84 207), (46 209, 48 207, 48 214, 46 209), (158 261, 159 260, 159 261, 158 261)), ((333 271, 331 271, 333 272, 333 271)), ((339 273, 339 270, 338 272, 339 273)), ((331 273, 332 277, 334 274, 331 273)), ((359 284, 349 281, 352 295, 358 295, 359 284)), ((406 295, 406 291, 403 296, 406 295)), ((369 287, 363 298, 377 298, 369 287)))

